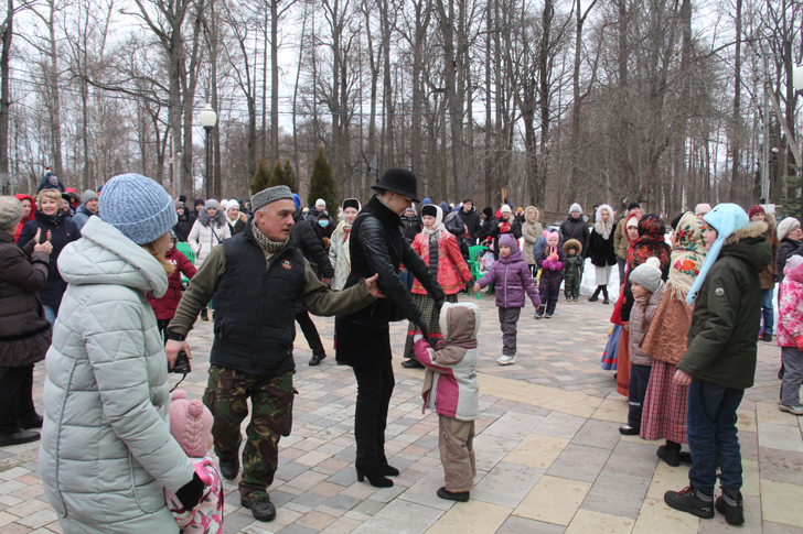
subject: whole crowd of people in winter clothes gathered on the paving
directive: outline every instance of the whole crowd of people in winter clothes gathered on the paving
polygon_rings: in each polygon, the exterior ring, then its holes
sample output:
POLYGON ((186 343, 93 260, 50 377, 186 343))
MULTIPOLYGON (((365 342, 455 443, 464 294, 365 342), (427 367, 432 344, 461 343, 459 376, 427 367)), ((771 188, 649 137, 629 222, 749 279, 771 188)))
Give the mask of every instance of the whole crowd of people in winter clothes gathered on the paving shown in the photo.
POLYGON ((420 201, 402 168, 372 188, 336 214, 323 199, 303 208, 286 186, 189 203, 136 174, 78 196, 49 172, 35 198, 0 197, 0 446, 42 440, 45 497, 64 532, 220 532, 221 479, 238 476, 240 504, 275 519, 268 488, 292 428, 295 324, 309 366, 328 356, 310 313, 335 317, 335 359, 355 377, 357 479, 392 487, 399 475, 385 454, 389 323, 407 320, 403 366, 426 369, 425 406, 440 422, 437 494, 469 500, 481 317, 459 295, 495 293, 497 363, 511 366, 527 299, 536 319, 552 318, 561 288, 578 302, 587 264, 589 302, 609 304, 614 265, 620 274, 602 356, 629 401, 619 432, 664 439, 663 461, 692 465, 689 486, 666 493, 670 506, 743 523, 736 411, 760 339, 782 349, 780 410, 803 415, 799 220, 700 204, 667 231, 631 203, 618 221, 611 205, 589 218, 572 204, 549 225, 507 199, 482 211, 471 198, 420 201), (478 246, 493 255, 479 277, 478 246), (199 318, 214 322, 203 401, 178 390, 171 402, 168 369, 192 358, 199 318), (45 356, 42 416, 32 388, 45 356))

